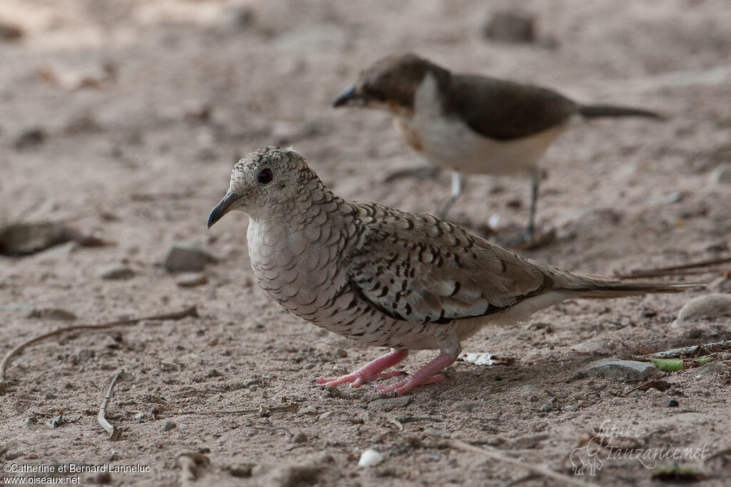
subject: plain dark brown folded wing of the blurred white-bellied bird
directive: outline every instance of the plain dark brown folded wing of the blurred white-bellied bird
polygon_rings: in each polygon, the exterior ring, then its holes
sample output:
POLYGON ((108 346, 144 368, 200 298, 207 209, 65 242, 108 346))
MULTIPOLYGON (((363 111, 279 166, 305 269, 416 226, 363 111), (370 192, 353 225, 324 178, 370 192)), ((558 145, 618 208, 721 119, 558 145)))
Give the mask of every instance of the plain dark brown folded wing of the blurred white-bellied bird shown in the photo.
POLYGON ((467 124, 485 137, 498 140, 529 137, 565 123, 579 110, 560 93, 508 80, 455 74, 450 102, 467 124))

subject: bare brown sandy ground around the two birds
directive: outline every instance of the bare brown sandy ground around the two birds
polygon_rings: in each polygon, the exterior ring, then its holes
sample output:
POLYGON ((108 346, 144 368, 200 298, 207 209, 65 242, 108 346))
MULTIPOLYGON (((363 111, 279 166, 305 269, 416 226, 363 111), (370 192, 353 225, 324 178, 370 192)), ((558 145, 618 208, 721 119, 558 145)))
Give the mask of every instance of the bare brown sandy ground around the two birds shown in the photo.
MULTIPOLYGON (((643 462, 638 452, 678 448, 678 465, 708 485, 731 482, 727 457, 711 458, 731 446, 728 356, 716 356, 716 373, 668 374, 662 392, 579 374, 605 356, 730 339, 728 317, 670 326, 685 302, 708 291, 566 302, 463 345, 515 363, 458 362, 446 382, 404 402, 373 402, 366 388, 325 391, 310 380, 382 350, 271 302, 251 275, 245 215, 205 229, 232 164, 271 144, 293 145, 346 198, 440 207, 447 174, 383 183, 391 169, 420 164, 387 117, 328 107, 364 66, 414 50, 455 70, 669 115, 665 123, 610 120, 568 131, 545 156, 539 202, 539 225, 558 239, 526 255, 605 275, 727 256, 731 183, 719 175, 726 168, 729 179, 731 161, 728 2, 527 1, 520 7, 536 15, 540 42, 488 42, 482 23, 505 4, 2 1, 0 21, 22 37, 0 40, 0 224, 61 221, 110 245, 0 257, 0 350, 59 326, 192 305, 200 314, 77 331, 27 349, 0 396, 3 468, 144 470, 64 477, 118 486, 561 485, 450 440, 572 475, 572 452, 590 455, 586 439, 614 425, 610 442, 624 449, 602 448, 593 457, 599 468, 575 479, 659 483, 654 476, 673 459, 643 462), (20 139, 34 129, 40 142, 20 139), (164 269, 173 242, 218 259, 202 271, 207 282, 181 287, 189 277, 164 269), (115 264, 131 273, 102 278, 115 264), (77 318, 30 312, 48 309, 77 318), (96 413, 118 369, 128 375, 107 418, 124 433, 112 442, 96 413), (298 410, 281 408, 290 404, 298 410), (385 461, 357 467, 368 448, 385 461), (180 466, 196 461, 195 472, 180 466)), ((525 179, 474 177, 452 218, 480 229, 497 213, 509 234, 526 220, 527 196, 525 179)), ((675 279, 731 292, 728 265, 675 279)), ((414 353, 404 369, 432 355, 414 353)))

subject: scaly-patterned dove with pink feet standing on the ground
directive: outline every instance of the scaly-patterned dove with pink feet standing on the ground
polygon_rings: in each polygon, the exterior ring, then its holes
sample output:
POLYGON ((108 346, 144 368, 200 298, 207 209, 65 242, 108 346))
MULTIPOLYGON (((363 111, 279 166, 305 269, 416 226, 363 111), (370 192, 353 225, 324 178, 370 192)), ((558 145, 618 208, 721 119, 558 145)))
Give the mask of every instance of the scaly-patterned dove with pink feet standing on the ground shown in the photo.
POLYGON ((392 350, 320 385, 395 377, 412 349, 439 356, 398 382, 401 395, 444 380, 461 342, 487 324, 510 325, 569 298, 673 293, 694 285, 638 283, 538 264, 446 221, 332 193, 292 150, 264 147, 238 161, 208 217, 249 215, 249 256, 258 283, 281 306, 317 326, 392 350))

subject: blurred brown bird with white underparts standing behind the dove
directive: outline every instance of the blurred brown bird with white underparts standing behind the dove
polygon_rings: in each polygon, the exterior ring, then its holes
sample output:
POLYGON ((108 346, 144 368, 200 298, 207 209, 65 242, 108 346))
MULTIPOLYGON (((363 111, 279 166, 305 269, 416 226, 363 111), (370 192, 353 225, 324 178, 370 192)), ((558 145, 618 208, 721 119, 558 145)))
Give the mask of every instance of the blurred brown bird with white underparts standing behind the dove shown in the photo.
POLYGON ((461 174, 529 173, 531 204, 524 238, 534 236, 540 170, 538 161, 567 127, 599 117, 661 119, 647 110, 583 105, 548 88, 474 74, 454 74, 413 54, 377 61, 333 100, 333 107, 387 110, 398 133, 437 167, 452 170, 452 196, 461 174))

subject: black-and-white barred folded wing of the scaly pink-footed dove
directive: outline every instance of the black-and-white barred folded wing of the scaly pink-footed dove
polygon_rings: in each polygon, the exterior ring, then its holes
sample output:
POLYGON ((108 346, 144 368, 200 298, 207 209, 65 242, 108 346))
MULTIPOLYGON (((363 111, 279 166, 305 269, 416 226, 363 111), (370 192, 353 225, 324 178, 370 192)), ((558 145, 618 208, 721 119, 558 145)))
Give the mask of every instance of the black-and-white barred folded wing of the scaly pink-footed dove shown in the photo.
POLYGON ((431 215, 385 212, 342 265, 368 302, 406 321, 488 315, 550 288, 537 266, 431 215))

